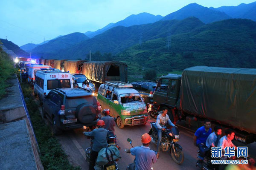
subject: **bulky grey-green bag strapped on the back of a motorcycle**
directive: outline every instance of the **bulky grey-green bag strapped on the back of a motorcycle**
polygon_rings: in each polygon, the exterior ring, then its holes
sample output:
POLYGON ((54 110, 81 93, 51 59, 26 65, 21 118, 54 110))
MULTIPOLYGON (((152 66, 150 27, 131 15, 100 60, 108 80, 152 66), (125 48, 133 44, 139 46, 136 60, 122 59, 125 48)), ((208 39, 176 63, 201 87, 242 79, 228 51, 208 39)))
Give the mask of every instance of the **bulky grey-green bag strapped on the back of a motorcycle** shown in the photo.
POLYGON ((110 161, 115 161, 116 159, 121 158, 119 150, 115 146, 103 147, 98 154, 96 164, 103 166, 108 164, 110 161))

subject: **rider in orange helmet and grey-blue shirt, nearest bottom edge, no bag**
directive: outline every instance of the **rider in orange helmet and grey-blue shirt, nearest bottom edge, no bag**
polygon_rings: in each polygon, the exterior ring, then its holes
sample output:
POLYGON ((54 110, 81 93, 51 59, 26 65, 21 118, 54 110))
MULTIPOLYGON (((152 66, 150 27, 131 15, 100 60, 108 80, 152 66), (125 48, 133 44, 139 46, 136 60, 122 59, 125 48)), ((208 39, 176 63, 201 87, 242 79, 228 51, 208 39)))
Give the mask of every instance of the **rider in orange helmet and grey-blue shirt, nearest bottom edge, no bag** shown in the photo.
POLYGON ((141 142, 143 145, 126 150, 127 153, 135 156, 135 167, 131 164, 130 170, 151 170, 152 164, 157 161, 156 153, 148 147, 151 142, 148 133, 141 136, 141 142))

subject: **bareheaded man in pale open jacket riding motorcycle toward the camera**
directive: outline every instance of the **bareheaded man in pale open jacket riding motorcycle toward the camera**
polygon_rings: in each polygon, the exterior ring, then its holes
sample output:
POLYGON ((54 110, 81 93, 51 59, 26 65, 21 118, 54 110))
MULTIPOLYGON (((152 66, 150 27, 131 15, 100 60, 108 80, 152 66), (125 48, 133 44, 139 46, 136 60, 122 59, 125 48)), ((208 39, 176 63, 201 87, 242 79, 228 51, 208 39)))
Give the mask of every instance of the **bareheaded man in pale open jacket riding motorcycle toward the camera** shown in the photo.
POLYGON ((160 111, 157 116, 157 122, 156 122, 157 135, 158 135, 157 158, 159 157, 162 134, 163 134, 163 131, 165 130, 165 128, 163 128, 163 126, 166 125, 166 123, 168 123, 172 127, 177 127, 172 123, 172 121, 170 120, 167 113, 168 113, 168 109, 166 107, 164 107, 163 110, 160 111))

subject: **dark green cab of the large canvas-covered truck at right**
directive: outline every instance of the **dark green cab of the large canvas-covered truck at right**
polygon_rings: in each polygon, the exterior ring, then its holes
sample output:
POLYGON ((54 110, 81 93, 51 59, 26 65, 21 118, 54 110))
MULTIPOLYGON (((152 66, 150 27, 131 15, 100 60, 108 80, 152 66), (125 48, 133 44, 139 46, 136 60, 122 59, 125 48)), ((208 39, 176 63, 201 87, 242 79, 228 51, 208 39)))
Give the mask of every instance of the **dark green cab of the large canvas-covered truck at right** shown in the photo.
POLYGON ((168 115, 171 121, 175 121, 175 109, 180 96, 181 74, 168 74, 157 81, 157 88, 153 94, 154 109, 169 108, 168 115))

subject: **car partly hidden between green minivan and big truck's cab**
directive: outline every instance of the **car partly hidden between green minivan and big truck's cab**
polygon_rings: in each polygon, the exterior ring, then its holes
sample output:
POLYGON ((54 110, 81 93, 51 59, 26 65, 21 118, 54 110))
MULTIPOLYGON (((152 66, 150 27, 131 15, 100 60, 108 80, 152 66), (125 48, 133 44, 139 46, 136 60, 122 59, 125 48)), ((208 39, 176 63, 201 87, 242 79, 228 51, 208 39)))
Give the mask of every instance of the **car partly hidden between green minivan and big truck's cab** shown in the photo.
POLYGON ((148 104, 153 103, 153 93, 157 86, 156 82, 132 82, 133 88, 140 93, 140 96, 145 99, 145 103, 148 107, 148 104))

